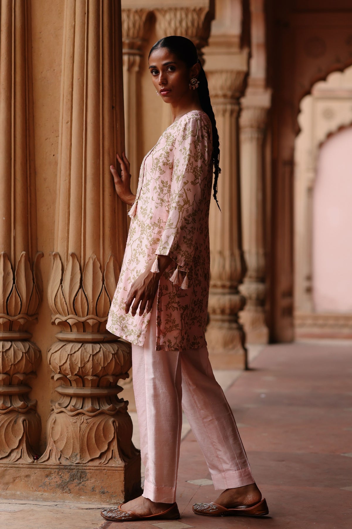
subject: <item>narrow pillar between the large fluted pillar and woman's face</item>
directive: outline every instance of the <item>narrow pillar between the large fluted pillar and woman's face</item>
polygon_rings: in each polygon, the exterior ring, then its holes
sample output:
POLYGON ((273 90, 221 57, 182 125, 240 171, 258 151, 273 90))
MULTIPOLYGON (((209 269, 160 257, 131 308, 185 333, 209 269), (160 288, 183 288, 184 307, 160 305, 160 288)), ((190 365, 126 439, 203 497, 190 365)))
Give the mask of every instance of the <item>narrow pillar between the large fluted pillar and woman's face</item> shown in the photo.
POLYGON ((141 122, 140 62, 148 9, 122 10, 123 100, 125 102, 126 153, 132 168, 131 189, 137 190, 141 122))

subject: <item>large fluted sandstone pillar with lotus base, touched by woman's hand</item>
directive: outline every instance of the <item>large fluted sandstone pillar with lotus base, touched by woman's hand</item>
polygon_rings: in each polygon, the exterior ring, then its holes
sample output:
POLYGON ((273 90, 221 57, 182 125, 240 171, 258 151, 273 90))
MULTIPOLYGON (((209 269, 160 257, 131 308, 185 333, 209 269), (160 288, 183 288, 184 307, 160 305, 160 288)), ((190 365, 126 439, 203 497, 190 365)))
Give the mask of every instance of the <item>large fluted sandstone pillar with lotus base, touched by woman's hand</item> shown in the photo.
POLYGON ((117 0, 66 0, 55 251, 48 298, 61 331, 48 351, 60 395, 37 467, 49 494, 115 503, 140 491, 119 379, 130 345, 106 330, 127 236, 110 175, 124 148, 121 11, 117 0), (69 482, 69 487, 62 487, 69 482))

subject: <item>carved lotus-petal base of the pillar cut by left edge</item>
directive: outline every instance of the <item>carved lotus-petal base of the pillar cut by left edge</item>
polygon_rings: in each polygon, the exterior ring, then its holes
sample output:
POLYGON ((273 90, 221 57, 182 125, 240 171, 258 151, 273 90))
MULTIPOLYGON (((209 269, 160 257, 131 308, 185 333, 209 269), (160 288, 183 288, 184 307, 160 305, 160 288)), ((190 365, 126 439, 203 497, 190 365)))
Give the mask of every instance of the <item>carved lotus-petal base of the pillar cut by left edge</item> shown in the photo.
POLYGON ((37 318, 43 293, 38 252, 31 266, 22 252, 13 271, 7 254, 0 254, 0 461, 33 462, 41 421, 36 401, 28 394, 28 379, 41 361, 37 345, 27 338, 28 323, 37 318), (16 339, 17 338, 17 339, 16 339))

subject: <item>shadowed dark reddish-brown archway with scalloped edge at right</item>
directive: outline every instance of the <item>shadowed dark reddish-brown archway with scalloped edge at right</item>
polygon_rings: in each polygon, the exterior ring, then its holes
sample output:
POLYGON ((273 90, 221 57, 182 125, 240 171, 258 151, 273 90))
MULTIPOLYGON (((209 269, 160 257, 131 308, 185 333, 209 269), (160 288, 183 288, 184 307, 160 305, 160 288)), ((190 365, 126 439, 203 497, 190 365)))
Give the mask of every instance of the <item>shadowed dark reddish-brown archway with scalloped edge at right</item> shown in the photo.
POLYGON ((270 341, 294 339, 294 145, 302 98, 317 81, 352 64, 352 12, 345 0, 323 6, 316 0, 271 0, 269 80, 271 181, 267 198, 268 325, 270 341))

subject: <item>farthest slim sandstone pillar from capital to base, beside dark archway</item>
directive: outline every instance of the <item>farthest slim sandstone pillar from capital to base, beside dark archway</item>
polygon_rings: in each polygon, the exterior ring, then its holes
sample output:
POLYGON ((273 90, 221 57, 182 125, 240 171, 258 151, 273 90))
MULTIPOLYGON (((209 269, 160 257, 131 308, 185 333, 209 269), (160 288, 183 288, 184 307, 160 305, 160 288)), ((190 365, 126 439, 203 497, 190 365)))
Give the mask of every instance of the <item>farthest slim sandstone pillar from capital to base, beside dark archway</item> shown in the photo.
POLYGON ((249 343, 268 343, 265 323, 264 133, 268 109, 243 106, 241 113, 241 195, 243 250, 247 265, 241 314, 249 343))

